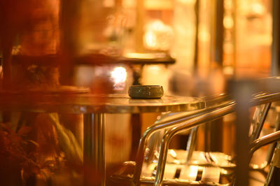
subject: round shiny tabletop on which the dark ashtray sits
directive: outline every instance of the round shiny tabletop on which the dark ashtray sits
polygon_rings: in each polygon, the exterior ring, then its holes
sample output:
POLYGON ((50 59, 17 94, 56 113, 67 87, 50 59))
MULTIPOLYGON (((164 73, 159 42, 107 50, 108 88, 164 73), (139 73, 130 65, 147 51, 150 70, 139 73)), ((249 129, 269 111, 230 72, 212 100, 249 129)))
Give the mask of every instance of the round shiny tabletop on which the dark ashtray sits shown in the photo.
POLYGON ((191 96, 131 99, 128 94, 8 94, 0 92, 0 110, 37 113, 151 113, 191 111, 205 107, 191 96))

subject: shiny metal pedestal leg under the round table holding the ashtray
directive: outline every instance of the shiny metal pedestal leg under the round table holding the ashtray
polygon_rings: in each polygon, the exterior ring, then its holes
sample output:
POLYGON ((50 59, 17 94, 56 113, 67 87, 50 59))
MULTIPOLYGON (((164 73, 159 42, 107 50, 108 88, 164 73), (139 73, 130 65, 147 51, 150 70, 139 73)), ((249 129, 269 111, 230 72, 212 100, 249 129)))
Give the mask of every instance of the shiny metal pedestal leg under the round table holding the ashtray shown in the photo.
POLYGON ((84 185, 105 185, 104 113, 84 115, 84 185))

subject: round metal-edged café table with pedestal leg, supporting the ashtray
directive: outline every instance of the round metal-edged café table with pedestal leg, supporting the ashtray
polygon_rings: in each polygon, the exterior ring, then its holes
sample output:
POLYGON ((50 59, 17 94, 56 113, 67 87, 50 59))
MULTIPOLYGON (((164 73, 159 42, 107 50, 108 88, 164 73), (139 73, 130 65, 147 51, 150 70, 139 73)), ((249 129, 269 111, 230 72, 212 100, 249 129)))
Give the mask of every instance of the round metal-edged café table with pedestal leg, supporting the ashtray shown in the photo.
MULTIPOLYGON (((104 114, 105 113, 159 113, 202 109, 202 99, 191 96, 162 96, 161 99, 130 99, 127 94, 76 92, 0 92, 0 110, 35 113, 83 114, 83 164, 98 171, 97 185, 105 185, 104 114)), ((85 170, 86 171, 86 170, 85 170)), ((91 176, 91 173, 84 173, 91 176)), ((87 183, 85 185, 96 185, 87 183)))

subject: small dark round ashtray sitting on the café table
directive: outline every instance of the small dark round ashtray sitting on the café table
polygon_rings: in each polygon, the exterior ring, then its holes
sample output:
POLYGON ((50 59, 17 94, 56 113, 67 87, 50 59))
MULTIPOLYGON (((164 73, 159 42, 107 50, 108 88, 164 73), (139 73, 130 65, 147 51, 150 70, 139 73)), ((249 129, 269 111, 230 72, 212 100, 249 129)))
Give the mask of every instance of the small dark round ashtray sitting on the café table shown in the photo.
POLYGON ((132 85, 128 94, 131 98, 158 99, 163 96, 163 88, 160 85, 132 85))

